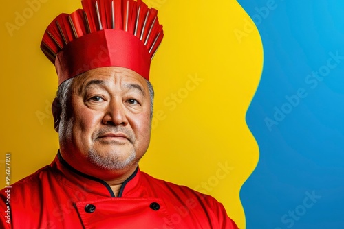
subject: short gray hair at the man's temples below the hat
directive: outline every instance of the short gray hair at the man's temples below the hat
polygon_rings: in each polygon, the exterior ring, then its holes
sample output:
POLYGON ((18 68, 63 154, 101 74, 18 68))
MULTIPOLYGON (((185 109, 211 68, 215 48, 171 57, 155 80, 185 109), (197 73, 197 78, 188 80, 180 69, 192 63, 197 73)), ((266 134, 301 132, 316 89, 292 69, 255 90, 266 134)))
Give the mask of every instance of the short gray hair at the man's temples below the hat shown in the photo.
MULTIPOLYGON (((80 74, 82 75, 82 74, 80 74)), ((146 79, 145 79, 146 80, 146 79)), ((61 122, 66 121, 67 115, 67 103, 72 96, 72 84, 74 82, 74 78, 65 80, 60 86, 58 86, 58 90, 56 93, 56 98, 60 101, 62 112, 61 112, 61 122)), ((151 82, 146 80, 147 86, 149 89, 149 97, 151 99, 151 119, 153 119, 153 99, 154 99, 154 89, 151 85, 151 82)))

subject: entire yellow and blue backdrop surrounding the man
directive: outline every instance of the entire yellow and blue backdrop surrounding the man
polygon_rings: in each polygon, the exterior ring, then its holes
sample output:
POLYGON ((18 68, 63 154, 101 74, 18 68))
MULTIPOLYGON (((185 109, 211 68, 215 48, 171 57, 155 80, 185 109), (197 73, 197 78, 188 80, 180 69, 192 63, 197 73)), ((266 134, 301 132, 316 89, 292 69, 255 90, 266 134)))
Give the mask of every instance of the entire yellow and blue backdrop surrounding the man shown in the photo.
MULTIPOLYGON (((140 169, 213 195, 239 228, 344 228, 344 3, 145 2, 165 36, 140 169)), ((58 80, 39 45, 52 19, 77 8, 18 0, 0 9, 1 187, 6 155, 9 184, 56 156, 58 80)))

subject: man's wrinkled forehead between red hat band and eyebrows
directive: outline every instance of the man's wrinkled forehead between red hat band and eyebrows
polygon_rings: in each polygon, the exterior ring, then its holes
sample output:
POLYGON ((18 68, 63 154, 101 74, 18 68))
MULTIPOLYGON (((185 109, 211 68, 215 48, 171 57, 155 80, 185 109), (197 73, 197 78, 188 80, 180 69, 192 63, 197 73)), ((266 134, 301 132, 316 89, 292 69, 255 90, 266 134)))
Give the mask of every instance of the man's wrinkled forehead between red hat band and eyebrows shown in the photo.
POLYGON ((102 67, 98 69, 92 69, 74 78, 73 88, 78 93, 82 93, 89 82, 99 81, 102 84, 118 84, 121 87, 127 87, 127 85, 141 86, 144 91, 148 90, 147 82, 138 73, 131 69, 122 67, 102 67))

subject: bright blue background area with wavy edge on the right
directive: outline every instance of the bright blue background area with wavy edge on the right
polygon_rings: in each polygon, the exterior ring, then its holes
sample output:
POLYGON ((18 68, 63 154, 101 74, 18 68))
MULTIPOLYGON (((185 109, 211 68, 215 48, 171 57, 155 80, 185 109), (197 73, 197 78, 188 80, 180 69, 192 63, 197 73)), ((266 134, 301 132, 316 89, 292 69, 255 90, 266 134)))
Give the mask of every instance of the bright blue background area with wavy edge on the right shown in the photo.
POLYGON ((246 228, 344 228, 344 1, 238 2, 264 46, 246 228))

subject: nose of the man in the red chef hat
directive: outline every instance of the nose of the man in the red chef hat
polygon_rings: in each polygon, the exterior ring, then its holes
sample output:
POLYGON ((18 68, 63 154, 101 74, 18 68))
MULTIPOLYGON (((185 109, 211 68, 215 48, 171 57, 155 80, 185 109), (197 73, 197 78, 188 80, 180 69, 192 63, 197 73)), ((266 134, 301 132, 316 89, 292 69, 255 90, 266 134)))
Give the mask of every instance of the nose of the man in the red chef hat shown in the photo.
POLYGON ((121 99, 114 98, 109 101, 103 117, 103 124, 123 126, 128 124, 125 107, 121 99))

